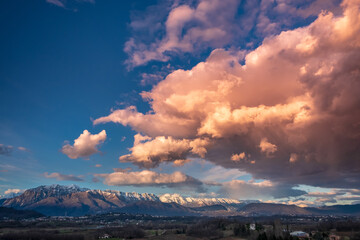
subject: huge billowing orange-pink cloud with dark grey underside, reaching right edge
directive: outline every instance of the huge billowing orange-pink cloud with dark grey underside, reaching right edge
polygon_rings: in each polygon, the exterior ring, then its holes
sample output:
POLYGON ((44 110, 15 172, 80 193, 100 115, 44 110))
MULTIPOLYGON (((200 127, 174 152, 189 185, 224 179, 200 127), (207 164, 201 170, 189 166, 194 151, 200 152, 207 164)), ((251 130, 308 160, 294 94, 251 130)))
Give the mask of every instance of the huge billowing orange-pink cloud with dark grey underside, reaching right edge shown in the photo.
MULTIPOLYGON (((124 157, 146 167, 195 154, 254 179, 359 188, 359 5, 345 0, 342 15, 321 12, 310 25, 268 37, 246 55, 216 49, 143 92, 148 113, 132 106, 94 124, 116 122, 151 137, 124 157), (189 145, 203 139, 209 144, 201 156, 189 145), (242 152, 254 164, 231 160, 242 152)), ((177 14, 190 18, 191 9, 177 14)))

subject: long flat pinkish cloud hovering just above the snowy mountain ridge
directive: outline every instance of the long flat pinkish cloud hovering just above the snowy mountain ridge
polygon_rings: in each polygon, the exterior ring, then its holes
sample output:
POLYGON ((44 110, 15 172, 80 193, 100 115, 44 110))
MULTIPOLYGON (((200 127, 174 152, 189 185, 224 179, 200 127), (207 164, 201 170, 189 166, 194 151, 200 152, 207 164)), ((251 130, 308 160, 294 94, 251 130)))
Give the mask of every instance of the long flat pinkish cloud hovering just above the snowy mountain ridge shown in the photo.
POLYGON ((149 170, 139 172, 118 171, 109 174, 95 174, 104 178, 110 186, 167 186, 201 188, 202 182, 181 172, 157 173, 149 170))

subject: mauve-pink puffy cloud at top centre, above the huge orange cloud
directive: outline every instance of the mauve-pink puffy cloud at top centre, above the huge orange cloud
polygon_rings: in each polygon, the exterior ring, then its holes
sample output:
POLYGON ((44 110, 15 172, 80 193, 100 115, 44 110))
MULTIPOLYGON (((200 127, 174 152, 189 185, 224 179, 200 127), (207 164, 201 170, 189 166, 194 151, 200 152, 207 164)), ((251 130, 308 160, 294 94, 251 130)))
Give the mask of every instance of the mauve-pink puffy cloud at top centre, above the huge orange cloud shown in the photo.
MULTIPOLYGON (((165 35, 149 45, 132 37, 125 43, 124 51, 129 55, 128 64, 139 66, 151 60, 168 61, 168 52, 192 52, 196 47, 221 47, 230 42, 236 10, 240 1, 220 0, 199 1, 197 6, 188 4, 172 5, 166 13, 166 21, 158 28, 165 35)), ((149 20, 148 17, 145 18, 149 20)), ((154 19, 162 21, 162 19, 154 19)), ((130 26, 139 30, 139 25, 148 25, 136 19, 130 26)))

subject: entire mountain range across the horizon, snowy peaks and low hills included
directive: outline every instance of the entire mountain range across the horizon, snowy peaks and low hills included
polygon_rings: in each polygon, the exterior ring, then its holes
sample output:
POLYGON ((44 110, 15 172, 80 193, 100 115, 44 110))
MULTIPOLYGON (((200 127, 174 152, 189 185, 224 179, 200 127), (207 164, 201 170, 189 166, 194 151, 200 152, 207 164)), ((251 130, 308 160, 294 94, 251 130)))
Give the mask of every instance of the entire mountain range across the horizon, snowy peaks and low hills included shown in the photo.
POLYGON ((179 194, 90 190, 76 185, 39 186, 0 201, 1 207, 34 210, 48 216, 83 216, 107 212, 161 216, 360 215, 358 205, 301 208, 227 198, 190 198, 179 194))

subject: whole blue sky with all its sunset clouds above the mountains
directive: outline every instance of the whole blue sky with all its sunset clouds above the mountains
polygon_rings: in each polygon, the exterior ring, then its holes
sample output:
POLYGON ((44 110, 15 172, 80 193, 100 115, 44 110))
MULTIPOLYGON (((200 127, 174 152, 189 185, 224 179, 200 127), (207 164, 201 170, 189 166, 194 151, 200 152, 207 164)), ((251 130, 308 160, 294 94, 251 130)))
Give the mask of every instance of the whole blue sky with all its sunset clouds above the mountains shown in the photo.
POLYGON ((8 0, 0 195, 360 203, 359 0, 8 0))

